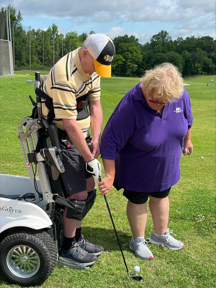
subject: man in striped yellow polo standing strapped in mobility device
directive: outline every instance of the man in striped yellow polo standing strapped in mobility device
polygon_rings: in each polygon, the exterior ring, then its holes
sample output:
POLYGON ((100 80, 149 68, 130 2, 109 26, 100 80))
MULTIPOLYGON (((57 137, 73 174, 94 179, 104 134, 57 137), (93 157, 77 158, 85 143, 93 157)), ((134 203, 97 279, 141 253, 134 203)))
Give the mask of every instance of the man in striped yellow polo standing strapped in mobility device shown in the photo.
MULTIPOLYGON (((100 175, 101 164, 96 160, 100 155, 103 119, 100 76, 111 77, 114 55, 115 47, 108 36, 89 35, 81 48, 69 52, 54 65, 41 86, 41 90, 53 99, 53 122, 61 129, 60 134, 62 131, 61 146, 66 149, 66 153, 62 160, 65 172, 61 177, 69 200, 85 200, 95 186, 92 175, 96 181, 100 175), (90 126, 92 153, 86 143, 90 126), (64 130, 67 134, 63 133, 64 130)), ((48 113, 44 99, 42 114, 45 119, 49 117, 48 113)), ((81 234, 82 221, 69 219, 66 214, 67 208, 63 213, 64 240, 60 259, 85 266, 94 264, 97 255, 103 253, 103 247, 89 243, 81 234)))

